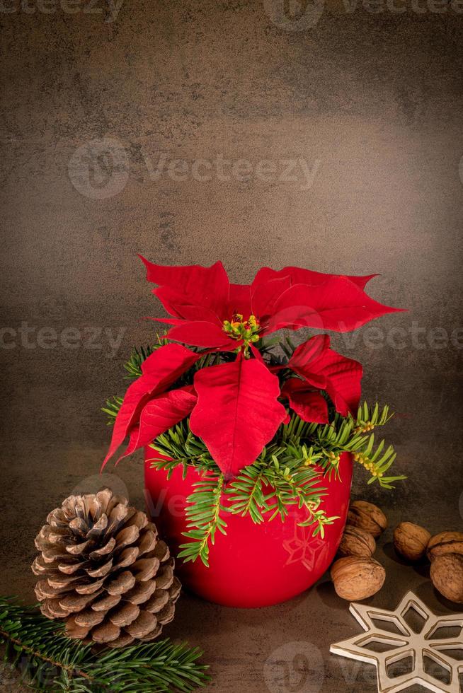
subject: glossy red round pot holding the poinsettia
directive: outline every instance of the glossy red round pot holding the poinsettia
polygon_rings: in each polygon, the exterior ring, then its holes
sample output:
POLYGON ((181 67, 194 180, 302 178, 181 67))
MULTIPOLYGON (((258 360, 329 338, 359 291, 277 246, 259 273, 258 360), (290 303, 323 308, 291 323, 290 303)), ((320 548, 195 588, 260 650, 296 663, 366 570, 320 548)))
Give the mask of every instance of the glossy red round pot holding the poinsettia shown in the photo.
MULTIPOLYGON (((164 471, 152 470, 152 448, 145 449, 145 487, 149 513, 159 532, 173 549, 187 540, 185 499, 198 481, 198 472, 188 470, 182 479, 181 468, 167 481, 164 471)), ((345 525, 352 481, 352 456, 341 455, 341 480, 324 479, 328 489, 324 509, 328 516, 339 516, 325 528, 325 538, 312 536, 312 529, 298 527, 303 511, 295 508, 285 522, 278 516, 271 522, 255 525, 248 516, 225 513, 227 535, 217 532, 210 547, 210 567, 200 559, 184 564, 177 561, 183 586, 202 598, 232 607, 262 607, 295 597, 311 587, 328 569, 338 549, 345 525)))

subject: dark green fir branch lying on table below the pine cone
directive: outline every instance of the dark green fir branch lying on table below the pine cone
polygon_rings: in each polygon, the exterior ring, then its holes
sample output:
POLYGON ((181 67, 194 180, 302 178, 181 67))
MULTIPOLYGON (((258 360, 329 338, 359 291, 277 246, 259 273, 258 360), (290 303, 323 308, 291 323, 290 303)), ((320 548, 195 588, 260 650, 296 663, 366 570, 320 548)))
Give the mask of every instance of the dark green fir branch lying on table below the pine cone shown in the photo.
POLYGON ((205 686, 202 652, 168 639, 120 649, 92 650, 64 636, 64 624, 17 598, 0 598, 0 642, 5 660, 35 690, 67 693, 188 693, 205 686))

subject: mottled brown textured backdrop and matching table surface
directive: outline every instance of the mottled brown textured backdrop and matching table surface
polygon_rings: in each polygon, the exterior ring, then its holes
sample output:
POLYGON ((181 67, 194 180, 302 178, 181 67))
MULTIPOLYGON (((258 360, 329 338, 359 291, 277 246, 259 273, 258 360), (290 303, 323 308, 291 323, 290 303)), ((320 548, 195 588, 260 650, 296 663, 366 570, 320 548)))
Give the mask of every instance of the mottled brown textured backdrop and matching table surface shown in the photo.
MULTIPOLYGON (((329 0, 302 30, 291 29, 289 6, 275 20, 277 0, 125 0, 113 22, 103 4, 93 14, 59 6, 0 13, 2 323, 35 327, 29 344, 1 333, 2 593, 32 600, 33 537, 47 512, 98 471, 109 438, 101 404, 123 392, 132 344, 152 337, 139 318, 161 313, 137 252, 165 264, 222 259, 241 282, 263 264, 381 272, 372 296, 410 309, 377 323, 389 344, 369 347, 363 332, 357 344, 334 343, 365 364, 365 397, 397 412, 387 435, 408 481, 379 494, 365 491, 360 473, 355 491, 387 508, 392 525, 403 518, 432 532, 462 527, 462 348, 436 349, 429 335, 461 325, 463 6, 404 6, 346 11, 329 0), (82 156, 102 138, 126 157, 122 168, 98 147, 88 163, 95 146, 82 156), (253 168, 270 160, 278 175, 213 173, 202 182, 164 172, 154 180, 149 164, 156 168, 162 154, 189 167, 217 156, 253 168), (299 158, 318 167, 308 190, 300 169, 297 180, 278 177, 282 160, 299 158), (105 197, 118 180, 123 189, 105 197), (102 199, 79 192, 86 185, 103 190, 102 199), (408 334, 404 348, 391 346, 389 330, 412 322, 424 328, 419 344, 408 334), (41 327, 75 327, 87 344, 38 341, 41 327), (102 327, 126 328, 117 353, 105 333, 101 348, 88 343, 88 329, 102 327)), ((118 474, 141 504, 140 458, 118 474)), ((416 588, 447 612, 425 570, 401 566, 388 545, 379 559, 388 577, 375 604, 394 607, 416 588)), ((168 634, 205 649, 219 692, 375 690, 370 668, 328 655, 329 643, 357 627, 326 581, 272 609, 185 597, 178 613, 168 634), (321 679, 314 664, 300 680, 268 687, 265 661, 299 641, 320 649, 321 679)))

